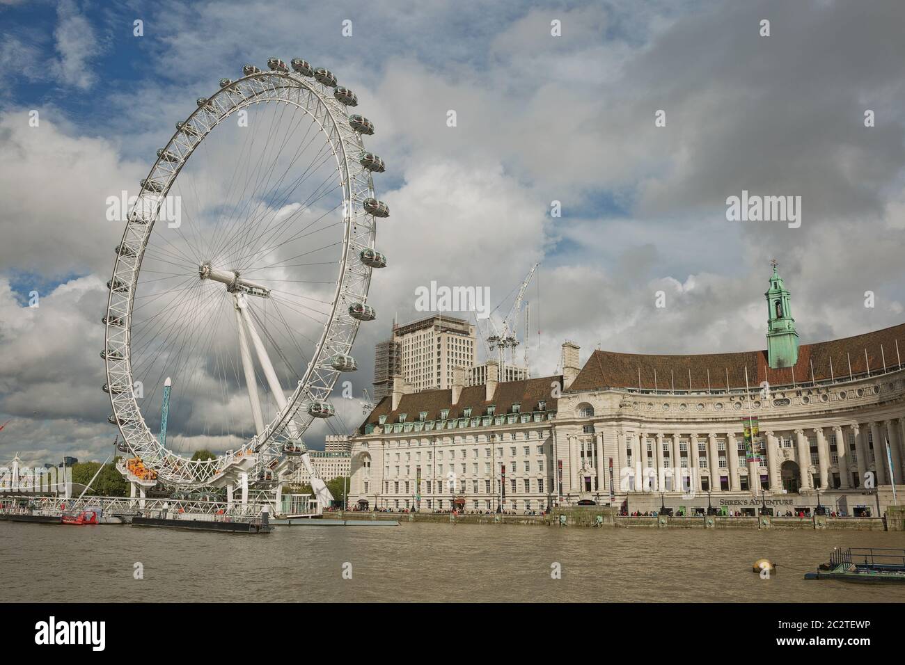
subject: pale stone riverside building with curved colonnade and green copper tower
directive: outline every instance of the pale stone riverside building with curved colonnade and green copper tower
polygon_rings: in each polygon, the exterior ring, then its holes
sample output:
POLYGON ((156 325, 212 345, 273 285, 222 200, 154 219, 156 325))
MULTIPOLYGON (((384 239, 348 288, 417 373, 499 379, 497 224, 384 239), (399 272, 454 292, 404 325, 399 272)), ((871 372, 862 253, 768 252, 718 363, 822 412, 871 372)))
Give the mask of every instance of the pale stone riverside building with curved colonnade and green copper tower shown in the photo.
POLYGON ((397 377, 352 438, 350 500, 877 515, 905 471, 905 325, 799 345, 775 265, 765 295, 763 350, 596 350, 581 366, 567 342, 562 375, 499 383, 491 362, 485 385, 458 370, 451 389, 421 393, 397 377))

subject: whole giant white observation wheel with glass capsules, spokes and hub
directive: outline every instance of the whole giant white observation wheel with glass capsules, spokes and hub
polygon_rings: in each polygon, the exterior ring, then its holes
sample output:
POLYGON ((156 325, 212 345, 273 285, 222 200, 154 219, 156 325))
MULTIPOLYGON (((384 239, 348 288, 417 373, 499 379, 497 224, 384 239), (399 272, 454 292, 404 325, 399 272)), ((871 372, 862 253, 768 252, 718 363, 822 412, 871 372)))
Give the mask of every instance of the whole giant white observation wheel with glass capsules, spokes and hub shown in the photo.
POLYGON ((108 283, 103 389, 125 447, 167 487, 245 474, 266 488, 295 455, 324 500, 301 437, 335 414, 358 325, 376 318, 367 292, 386 266, 375 237, 389 210, 373 174, 385 166, 336 76, 300 59, 268 68, 245 65, 197 100, 141 181, 108 283), (165 438, 148 423, 167 379, 165 438), (207 447, 227 452, 191 460, 207 447))

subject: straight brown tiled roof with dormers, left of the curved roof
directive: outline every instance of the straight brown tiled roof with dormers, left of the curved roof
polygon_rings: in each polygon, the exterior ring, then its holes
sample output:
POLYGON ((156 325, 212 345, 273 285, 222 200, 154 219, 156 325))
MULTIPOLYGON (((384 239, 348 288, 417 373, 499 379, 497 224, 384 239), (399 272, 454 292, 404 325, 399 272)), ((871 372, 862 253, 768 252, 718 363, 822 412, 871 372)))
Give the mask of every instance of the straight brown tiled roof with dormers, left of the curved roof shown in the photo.
POLYGON ((440 412, 449 409, 447 416, 462 418, 462 413, 467 407, 472 408, 472 418, 487 413, 487 407, 496 406, 495 413, 502 415, 510 413, 512 404, 519 403, 522 413, 530 413, 538 409, 538 402, 547 402, 547 411, 557 410, 557 399, 551 395, 552 383, 562 386, 562 375, 543 376, 536 379, 523 379, 521 381, 506 381, 497 384, 496 392, 491 400, 485 400, 486 386, 469 385, 462 388, 458 404, 452 402, 452 390, 424 390, 420 393, 404 394, 399 400, 399 408, 393 411, 393 396, 387 395, 374 407, 374 411, 368 414, 364 423, 358 427, 359 432, 364 432, 365 425, 377 424, 380 416, 386 415, 387 423, 398 422, 399 413, 406 414, 406 423, 414 423, 422 411, 427 412, 425 420, 440 420, 440 412))

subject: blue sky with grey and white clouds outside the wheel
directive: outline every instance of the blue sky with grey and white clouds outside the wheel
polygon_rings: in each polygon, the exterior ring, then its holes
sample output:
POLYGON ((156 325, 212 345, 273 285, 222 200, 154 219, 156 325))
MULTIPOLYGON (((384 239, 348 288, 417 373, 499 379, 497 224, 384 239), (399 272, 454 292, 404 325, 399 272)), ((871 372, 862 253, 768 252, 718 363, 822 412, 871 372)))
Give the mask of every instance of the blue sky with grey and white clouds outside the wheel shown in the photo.
MULTIPOLYGON (((898 0, 0 0, 0 463, 110 453, 106 201, 137 193, 196 98, 274 56, 335 72, 386 161, 356 397, 393 318, 424 315, 418 287, 489 287, 506 310, 538 261, 532 375, 565 339, 582 361, 764 348, 771 259, 802 343, 899 324, 903 23, 898 0), (729 220, 743 192, 800 197, 800 225, 729 220)), ((361 420, 334 403, 313 448, 361 420)))

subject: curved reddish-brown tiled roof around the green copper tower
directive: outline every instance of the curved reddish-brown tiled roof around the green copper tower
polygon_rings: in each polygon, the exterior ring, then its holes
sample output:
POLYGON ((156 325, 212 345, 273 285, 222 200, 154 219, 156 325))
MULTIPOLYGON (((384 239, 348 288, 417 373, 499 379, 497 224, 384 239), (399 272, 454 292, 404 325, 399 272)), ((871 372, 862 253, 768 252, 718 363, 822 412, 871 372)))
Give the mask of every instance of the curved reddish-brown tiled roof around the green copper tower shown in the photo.
POLYGON ((699 356, 649 356, 643 354, 595 351, 569 386, 569 392, 597 390, 605 387, 654 387, 660 390, 706 390, 745 387, 745 369, 748 368, 748 385, 757 386, 763 381, 770 385, 802 384, 847 377, 851 362, 852 375, 882 371, 900 365, 900 354, 905 354, 905 324, 883 328, 874 332, 844 337, 828 342, 805 344, 798 348, 798 362, 793 367, 770 369, 767 351, 742 351, 738 353, 704 354, 699 356), (897 349, 897 343, 899 349, 897 349), (654 371, 656 383, 654 384, 654 371), (639 377, 640 373, 640 377, 639 377), (727 386, 727 378, 729 386, 727 386))

